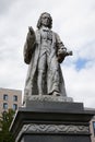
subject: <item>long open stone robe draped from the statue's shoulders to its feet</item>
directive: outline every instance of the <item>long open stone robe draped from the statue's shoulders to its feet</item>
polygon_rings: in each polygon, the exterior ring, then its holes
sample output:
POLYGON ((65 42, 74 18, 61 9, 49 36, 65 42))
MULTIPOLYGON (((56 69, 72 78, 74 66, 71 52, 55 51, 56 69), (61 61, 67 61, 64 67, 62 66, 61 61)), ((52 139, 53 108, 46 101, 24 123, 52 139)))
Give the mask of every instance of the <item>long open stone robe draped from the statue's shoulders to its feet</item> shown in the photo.
MULTIPOLYGON (((60 90, 60 95, 66 96, 64 81, 63 81, 61 69, 60 69, 60 63, 57 61, 57 52, 63 46, 63 44, 60 40, 58 34, 54 33, 52 31, 51 31, 51 33, 52 33, 52 44, 51 44, 51 54, 49 57, 49 67, 50 67, 51 62, 54 60, 56 60, 57 66, 58 66, 57 75, 59 75, 58 85, 59 85, 59 90, 60 90)), ((31 96, 31 95, 38 95, 37 64, 38 64, 40 48, 41 48, 40 29, 37 29, 35 32, 35 37, 31 37, 31 35, 27 34, 26 43, 24 45, 24 61, 28 64, 28 71, 27 71, 27 76, 26 76, 26 82, 25 82, 24 99, 26 99, 26 97, 31 96)), ((45 87, 44 87, 45 95, 51 94, 51 92, 54 92, 55 76, 56 76, 56 70, 52 71, 52 73, 48 71, 48 75, 47 75, 45 87), (55 74, 54 74, 54 72, 55 72, 55 74), (47 85, 49 85, 49 87, 47 85), (47 90, 48 90, 48 93, 47 93, 47 90)))

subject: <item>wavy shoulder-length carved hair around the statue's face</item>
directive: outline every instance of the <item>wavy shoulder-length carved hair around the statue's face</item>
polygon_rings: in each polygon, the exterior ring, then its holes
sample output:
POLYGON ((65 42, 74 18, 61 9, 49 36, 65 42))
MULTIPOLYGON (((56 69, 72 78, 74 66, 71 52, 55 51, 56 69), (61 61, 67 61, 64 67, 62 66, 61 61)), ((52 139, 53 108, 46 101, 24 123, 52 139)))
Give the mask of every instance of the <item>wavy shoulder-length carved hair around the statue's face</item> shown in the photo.
POLYGON ((37 28, 38 28, 38 29, 39 29, 40 26, 41 26, 41 16, 43 16, 44 14, 48 14, 48 15, 49 15, 50 23, 49 23, 48 27, 49 27, 49 28, 52 27, 52 17, 51 17, 51 15, 50 15, 49 13, 47 13, 47 12, 44 12, 44 13, 40 14, 39 20, 38 20, 38 22, 37 22, 37 28))

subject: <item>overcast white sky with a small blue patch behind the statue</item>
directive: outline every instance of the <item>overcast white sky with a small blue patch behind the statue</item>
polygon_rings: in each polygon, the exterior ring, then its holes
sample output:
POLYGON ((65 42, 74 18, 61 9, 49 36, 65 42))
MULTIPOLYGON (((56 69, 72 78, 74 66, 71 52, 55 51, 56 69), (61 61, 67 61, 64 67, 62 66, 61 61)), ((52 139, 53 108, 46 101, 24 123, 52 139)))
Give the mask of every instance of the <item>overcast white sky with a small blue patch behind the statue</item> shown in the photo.
POLYGON ((0 87, 24 90, 23 46, 41 12, 73 51, 61 63, 68 96, 95 108, 95 0, 0 0, 0 87))

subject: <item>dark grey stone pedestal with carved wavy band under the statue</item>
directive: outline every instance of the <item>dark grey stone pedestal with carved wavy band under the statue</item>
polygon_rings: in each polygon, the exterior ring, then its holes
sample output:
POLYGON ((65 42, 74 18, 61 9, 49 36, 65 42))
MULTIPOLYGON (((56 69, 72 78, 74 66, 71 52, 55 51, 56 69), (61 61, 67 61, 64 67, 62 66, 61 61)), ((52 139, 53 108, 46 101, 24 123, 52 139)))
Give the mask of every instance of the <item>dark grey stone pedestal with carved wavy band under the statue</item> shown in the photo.
POLYGON ((17 110, 10 131, 15 142, 91 142, 93 115, 82 103, 34 99, 17 110))

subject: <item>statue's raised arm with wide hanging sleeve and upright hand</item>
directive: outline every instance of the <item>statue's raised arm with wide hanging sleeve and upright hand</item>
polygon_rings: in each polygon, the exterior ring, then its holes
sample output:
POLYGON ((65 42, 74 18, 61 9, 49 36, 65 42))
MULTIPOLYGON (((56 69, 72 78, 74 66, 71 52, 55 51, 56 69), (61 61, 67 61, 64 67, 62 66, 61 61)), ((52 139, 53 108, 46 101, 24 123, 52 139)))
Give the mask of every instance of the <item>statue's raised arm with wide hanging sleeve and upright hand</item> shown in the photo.
POLYGON ((24 61, 27 64, 29 64, 31 59, 32 59, 32 54, 33 54, 34 48, 35 48, 35 40, 36 40, 35 32, 31 26, 31 27, 28 27, 26 42, 25 42, 25 45, 24 45, 24 61))

